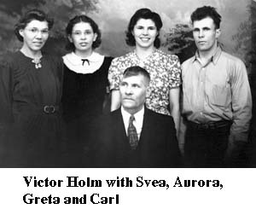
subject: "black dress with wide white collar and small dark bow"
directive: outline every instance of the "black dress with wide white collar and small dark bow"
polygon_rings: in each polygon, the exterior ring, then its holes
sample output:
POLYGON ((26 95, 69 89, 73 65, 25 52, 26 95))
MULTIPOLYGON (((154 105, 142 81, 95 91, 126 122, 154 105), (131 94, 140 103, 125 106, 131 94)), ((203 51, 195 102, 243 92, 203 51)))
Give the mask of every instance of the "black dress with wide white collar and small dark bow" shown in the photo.
POLYGON ((67 125, 69 166, 86 166, 87 156, 83 148, 88 148, 87 133, 91 121, 102 114, 108 67, 112 60, 112 57, 96 53, 85 63, 74 53, 64 56, 62 107, 67 125), (94 66, 98 67, 94 69, 94 66))

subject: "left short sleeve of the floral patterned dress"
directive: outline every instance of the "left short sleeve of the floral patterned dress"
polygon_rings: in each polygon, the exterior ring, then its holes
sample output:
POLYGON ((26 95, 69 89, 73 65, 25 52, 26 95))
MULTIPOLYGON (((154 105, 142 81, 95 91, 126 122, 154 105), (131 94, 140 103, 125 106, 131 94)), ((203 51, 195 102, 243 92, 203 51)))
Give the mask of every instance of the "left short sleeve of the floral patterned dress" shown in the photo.
POLYGON ((113 59, 108 70, 108 81, 110 90, 119 90, 119 83, 122 77, 121 61, 119 58, 113 59))

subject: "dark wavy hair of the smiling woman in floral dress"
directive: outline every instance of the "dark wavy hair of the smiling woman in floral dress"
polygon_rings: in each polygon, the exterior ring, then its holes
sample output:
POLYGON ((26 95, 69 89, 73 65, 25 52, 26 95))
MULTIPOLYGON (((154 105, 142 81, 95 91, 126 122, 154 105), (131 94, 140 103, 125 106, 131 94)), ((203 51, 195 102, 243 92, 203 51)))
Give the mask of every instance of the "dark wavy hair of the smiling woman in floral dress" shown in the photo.
MULTIPOLYGON (((130 20, 128 28, 127 28, 127 31, 125 32, 125 34, 126 34, 125 42, 129 46, 135 46, 136 45, 136 41, 135 41, 135 38, 132 34, 132 31, 134 29, 134 26, 137 24, 137 21, 140 20, 140 19, 146 19, 146 20, 150 19, 150 20, 154 21, 157 32, 160 32, 160 29, 163 26, 160 15, 158 15, 155 12, 152 12, 150 9, 146 9, 146 8, 138 9, 136 11, 136 13, 131 17, 131 20, 130 20)), ((157 49, 160 48, 159 34, 156 36, 156 38, 154 40, 154 47, 157 48, 157 49)))

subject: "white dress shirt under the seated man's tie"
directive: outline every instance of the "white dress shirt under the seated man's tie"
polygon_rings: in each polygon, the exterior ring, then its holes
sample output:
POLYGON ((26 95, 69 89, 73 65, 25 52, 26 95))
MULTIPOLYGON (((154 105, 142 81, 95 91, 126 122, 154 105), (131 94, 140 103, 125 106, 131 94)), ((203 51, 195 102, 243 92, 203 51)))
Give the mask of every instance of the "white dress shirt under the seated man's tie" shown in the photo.
MULTIPOLYGON (((143 130, 143 118, 144 118, 144 112, 145 109, 144 107, 137 113, 135 113, 134 116, 134 121, 133 121, 133 125, 136 128, 137 131, 137 138, 140 139, 141 136, 141 132, 143 130)), ((129 120, 131 117, 131 113, 128 113, 125 111, 124 107, 121 107, 121 113, 122 113, 122 117, 123 117, 123 121, 124 121, 124 125, 125 125, 125 131, 126 131, 126 135, 128 135, 128 126, 129 126, 129 120)))

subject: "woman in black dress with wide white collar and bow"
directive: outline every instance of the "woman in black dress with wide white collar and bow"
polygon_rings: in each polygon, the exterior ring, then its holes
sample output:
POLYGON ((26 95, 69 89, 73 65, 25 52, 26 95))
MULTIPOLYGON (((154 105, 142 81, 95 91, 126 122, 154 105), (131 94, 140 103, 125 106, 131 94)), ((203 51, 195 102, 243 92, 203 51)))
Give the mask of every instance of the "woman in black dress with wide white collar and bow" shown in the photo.
POLYGON ((77 15, 67 24, 71 52, 63 56, 64 80, 62 107, 67 124, 69 166, 86 166, 87 133, 91 121, 102 114, 108 67, 112 57, 100 55, 101 32, 96 22, 86 15, 77 15), (85 155, 84 155, 85 154, 85 155))

